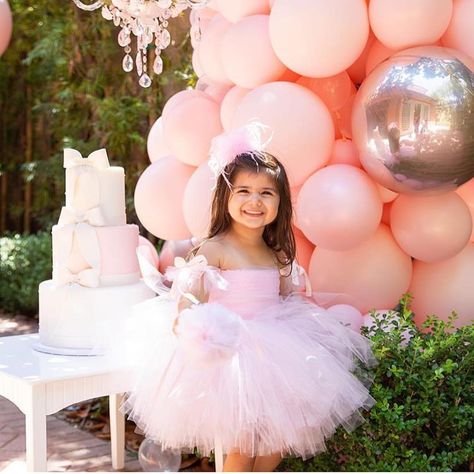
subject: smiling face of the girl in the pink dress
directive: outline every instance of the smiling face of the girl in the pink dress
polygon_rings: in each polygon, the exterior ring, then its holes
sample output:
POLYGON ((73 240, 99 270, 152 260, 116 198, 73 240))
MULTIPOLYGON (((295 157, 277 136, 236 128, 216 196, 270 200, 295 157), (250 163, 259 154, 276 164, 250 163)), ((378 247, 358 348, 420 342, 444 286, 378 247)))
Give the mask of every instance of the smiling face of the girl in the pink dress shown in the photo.
POLYGON ((264 228, 275 220, 279 204, 277 187, 267 173, 237 173, 228 203, 234 222, 251 229, 264 228))

